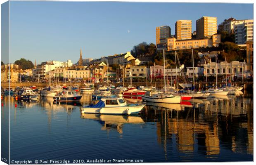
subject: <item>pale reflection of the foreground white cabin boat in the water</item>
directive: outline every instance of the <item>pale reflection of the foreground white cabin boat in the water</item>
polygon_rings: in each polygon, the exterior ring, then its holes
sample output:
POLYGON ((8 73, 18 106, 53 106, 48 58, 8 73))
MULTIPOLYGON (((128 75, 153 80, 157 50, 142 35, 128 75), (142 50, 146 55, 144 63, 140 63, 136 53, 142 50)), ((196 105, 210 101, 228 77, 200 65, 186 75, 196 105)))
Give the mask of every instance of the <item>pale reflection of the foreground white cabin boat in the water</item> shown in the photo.
POLYGON ((119 134, 123 134, 124 124, 144 124, 145 122, 140 116, 134 115, 102 115, 81 113, 81 118, 98 121, 102 125, 101 130, 116 130, 119 134))

